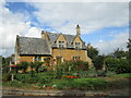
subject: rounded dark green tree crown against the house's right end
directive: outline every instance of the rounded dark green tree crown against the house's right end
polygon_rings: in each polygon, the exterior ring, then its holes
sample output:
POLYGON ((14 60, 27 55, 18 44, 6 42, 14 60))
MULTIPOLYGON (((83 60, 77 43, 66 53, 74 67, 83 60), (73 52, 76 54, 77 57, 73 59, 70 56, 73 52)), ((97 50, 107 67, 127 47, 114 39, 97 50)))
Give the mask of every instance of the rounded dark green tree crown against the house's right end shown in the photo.
POLYGON ((95 57, 97 57, 97 56, 98 56, 98 50, 97 50, 97 48, 87 47, 87 56, 88 56, 91 59, 94 59, 95 57))

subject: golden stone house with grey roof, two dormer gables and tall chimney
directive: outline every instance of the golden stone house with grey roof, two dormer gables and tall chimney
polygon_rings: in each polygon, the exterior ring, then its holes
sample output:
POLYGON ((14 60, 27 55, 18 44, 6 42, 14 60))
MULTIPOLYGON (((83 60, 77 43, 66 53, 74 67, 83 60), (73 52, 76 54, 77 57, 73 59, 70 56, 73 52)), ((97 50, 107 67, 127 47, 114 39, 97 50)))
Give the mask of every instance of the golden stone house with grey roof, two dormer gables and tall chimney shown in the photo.
POLYGON ((41 38, 16 36, 15 64, 21 61, 34 62, 49 60, 49 65, 60 64, 63 61, 92 60, 87 57, 85 42, 81 39, 80 26, 76 35, 48 33, 41 30, 41 38))

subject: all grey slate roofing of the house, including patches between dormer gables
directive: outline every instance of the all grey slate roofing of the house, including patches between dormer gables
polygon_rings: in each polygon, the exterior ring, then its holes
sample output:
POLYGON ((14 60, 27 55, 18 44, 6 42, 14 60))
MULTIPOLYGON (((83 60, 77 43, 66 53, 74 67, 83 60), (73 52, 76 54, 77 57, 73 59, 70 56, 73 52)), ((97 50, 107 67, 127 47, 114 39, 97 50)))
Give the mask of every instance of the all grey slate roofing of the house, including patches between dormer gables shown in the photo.
MULTIPOLYGON (((57 45, 55 41, 59 37, 60 34, 56 33, 47 33, 49 40, 51 42, 51 47, 56 48, 57 45)), ((75 35, 66 35, 63 34, 64 38, 67 39, 67 48, 74 48, 72 41, 75 38, 75 35)), ((17 51, 19 54, 51 54, 51 50, 49 47, 49 42, 47 42, 44 38, 32 38, 32 37, 17 37, 17 51)), ((82 46, 82 49, 86 49, 85 45, 82 46)))

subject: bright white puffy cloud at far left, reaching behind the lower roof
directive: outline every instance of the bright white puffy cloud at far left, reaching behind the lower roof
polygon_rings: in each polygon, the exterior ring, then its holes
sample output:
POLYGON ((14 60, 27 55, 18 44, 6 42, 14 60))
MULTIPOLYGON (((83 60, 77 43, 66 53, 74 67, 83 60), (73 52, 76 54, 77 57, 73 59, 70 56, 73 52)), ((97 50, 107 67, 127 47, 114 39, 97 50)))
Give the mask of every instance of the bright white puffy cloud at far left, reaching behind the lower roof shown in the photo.
MULTIPOLYGON (((12 13, 8 8, 5 8, 5 2, 1 2, 2 8, 0 13, 0 19, 2 19, 2 24, 0 24, 0 54, 10 56, 14 53, 14 45, 16 35, 25 36, 33 35, 33 30, 38 33, 38 29, 34 29, 31 26, 31 22, 26 22, 28 16, 24 13, 12 13)), ((37 37, 37 36, 36 36, 37 37)))

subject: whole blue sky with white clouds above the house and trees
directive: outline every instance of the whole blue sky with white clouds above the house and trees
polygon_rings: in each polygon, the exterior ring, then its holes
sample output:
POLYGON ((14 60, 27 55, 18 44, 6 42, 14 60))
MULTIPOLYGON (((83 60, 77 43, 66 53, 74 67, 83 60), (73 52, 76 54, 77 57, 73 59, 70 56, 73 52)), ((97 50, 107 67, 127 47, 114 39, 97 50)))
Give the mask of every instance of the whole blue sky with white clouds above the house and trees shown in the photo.
POLYGON ((128 2, 0 2, 0 56, 14 53, 16 35, 40 38, 41 30, 76 34, 109 54, 127 50, 129 38, 128 2))

